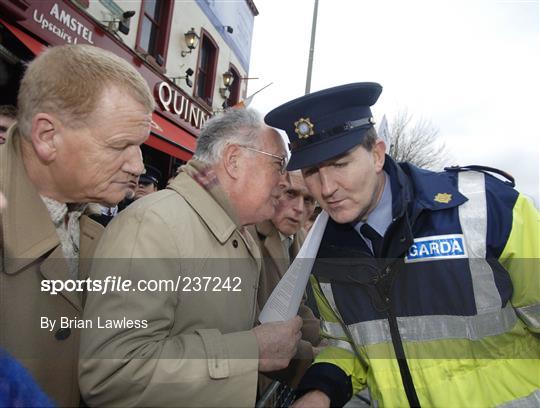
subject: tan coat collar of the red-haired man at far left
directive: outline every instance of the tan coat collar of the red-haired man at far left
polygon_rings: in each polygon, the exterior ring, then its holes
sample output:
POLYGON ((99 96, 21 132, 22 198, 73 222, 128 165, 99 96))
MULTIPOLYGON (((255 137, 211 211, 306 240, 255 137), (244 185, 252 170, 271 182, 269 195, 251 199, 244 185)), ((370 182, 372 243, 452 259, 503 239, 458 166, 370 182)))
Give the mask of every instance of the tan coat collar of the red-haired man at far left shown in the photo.
MULTIPOLYGON (((6 144, 0 149, 0 190, 8 202, 2 213, 4 270, 8 274, 21 270, 48 253, 50 258, 63 257, 47 207, 26 173, 21 137, 17 126, 12 126, 6 144)), ((103 227, 88 217, 81 217, 80 230, 80 257, 91 257, 103 227)), ((42 271, 46 269, 47 265, 44 265, 42 271)), ((63 268, 51 268, 54 272, 51 273, 59 279, 68 278, 69 275, 63 276, 60 269, 63 268)))

